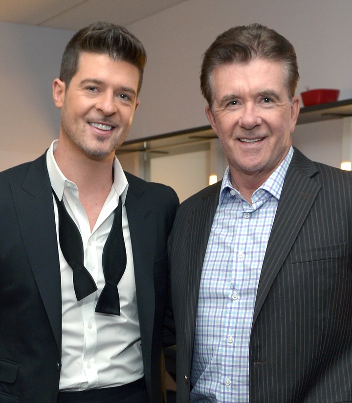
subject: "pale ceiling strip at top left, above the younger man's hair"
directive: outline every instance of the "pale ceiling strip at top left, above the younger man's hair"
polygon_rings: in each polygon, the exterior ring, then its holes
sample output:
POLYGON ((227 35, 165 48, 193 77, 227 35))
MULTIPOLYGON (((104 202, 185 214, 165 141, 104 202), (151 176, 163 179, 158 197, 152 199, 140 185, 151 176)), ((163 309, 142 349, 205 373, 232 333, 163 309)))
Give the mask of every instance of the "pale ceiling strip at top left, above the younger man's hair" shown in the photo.
POLYGON ((0 21, 78 30, 104 20, 128 25, 184 0, 0 0, 0 21))

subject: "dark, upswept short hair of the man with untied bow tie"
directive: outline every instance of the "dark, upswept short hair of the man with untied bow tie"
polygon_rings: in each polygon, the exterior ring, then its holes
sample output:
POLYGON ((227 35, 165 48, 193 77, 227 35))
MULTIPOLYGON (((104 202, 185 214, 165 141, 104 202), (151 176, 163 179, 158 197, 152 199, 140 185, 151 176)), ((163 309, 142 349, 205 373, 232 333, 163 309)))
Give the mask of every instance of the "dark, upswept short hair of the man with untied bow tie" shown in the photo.
POLYGON ((68 87, 76 74, 82 52, 108 54, 113 60, 129 62, 139 70, 139 93, 147 53, 142 43, 121 25, 110 22, 94 22, 76 32, 66 45, 60 69, 60 80, 68 87))

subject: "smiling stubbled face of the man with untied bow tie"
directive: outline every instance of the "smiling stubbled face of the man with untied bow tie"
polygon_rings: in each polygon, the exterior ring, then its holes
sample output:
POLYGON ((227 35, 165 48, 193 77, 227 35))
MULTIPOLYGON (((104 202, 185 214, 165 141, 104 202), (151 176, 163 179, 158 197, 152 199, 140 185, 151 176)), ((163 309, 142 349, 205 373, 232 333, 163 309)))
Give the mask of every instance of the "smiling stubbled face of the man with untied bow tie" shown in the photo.
POLYGON ((138 106, 138 81, 139 70, 131 63, 83 52, 68 87, 59 79, 53 84, 62 140, 89 157, 113 154, 125 140, 138 106))

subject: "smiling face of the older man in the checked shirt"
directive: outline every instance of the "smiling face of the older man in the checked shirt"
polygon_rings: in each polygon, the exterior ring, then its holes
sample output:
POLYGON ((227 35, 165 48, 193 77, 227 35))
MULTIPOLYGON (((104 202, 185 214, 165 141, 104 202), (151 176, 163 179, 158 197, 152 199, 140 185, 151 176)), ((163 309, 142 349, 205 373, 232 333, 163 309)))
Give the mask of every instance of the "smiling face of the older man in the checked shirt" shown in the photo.
POLYGON ((221 65, 212 73, 213 105, 207 117, 230 165, 232 178, 264 181, 285 158, 299 112, 290 99, 284 64, 263 58, 221 65))

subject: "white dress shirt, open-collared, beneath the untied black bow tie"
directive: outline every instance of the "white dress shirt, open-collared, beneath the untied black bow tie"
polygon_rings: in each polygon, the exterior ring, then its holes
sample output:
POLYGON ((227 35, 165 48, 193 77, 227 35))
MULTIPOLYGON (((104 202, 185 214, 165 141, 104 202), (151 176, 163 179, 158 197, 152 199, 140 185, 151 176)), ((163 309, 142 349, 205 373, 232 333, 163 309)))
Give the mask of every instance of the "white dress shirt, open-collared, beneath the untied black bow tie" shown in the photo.
POLYGON ((143 377, 143 360, 137 312, 132 245, 125 200, 128 182, 115 157, 114 183, 92 231, 87 214, 79 200, 77 186, 59 169, 53 151, 54 140, 47 151, 46 163, 51 186, 59 200, 64 199, 67 212, 80 230, 84 249, 84 265, 98 290, 77 301, 72 269, 59 244, 58 212, 53 198, 58 239, 62 293, 62 369, 61 391, 120 386, 143 377), (110 233, 113 212, 119 197, 123 203, 122 226, 126 245, 127 266, 119 284, 121 316, 96 313, 95 305, 105 285, 102 253, 110 233))

